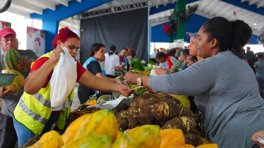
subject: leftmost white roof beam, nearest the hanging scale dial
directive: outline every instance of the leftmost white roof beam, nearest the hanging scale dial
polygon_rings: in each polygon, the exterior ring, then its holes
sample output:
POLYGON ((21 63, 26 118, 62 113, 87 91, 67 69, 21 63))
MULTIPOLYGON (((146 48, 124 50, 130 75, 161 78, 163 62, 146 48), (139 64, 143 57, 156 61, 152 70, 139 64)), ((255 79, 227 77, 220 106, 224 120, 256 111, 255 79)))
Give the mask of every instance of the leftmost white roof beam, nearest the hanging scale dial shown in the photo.
POLYGON ((13 0, 12 5, 13 5, 13 7, 16 7, 16 8, 21 9, 21 7, 22 7, 23 9, 28 9, 29 11, 34 11, 37 14, 43 14, 43 10, 41 8, 36 7, 30 3, 23 2, 21 0, 13 0))

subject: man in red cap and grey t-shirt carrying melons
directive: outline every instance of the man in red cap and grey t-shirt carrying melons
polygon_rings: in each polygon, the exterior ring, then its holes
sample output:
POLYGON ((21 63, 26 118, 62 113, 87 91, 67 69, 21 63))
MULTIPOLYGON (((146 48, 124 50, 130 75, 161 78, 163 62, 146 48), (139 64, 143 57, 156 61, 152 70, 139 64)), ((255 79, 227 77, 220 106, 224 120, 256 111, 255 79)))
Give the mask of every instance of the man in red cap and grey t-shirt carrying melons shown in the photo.
MULTIPOLYGON (((21 56, 19 60, 18 69, 27 67, 26 78, 29 75, 30 65, 32 61, 37 60, 37 55, 32 50, 18 50, 18 40, 16 39, 16 32, 9 27, 3 28, 0 31, 0 46, 4 53, 8 48, 17 50, 21 56)), ((4 54, 1 55, 1 70, 6 69, 4 66, 4 54)), ((22 96, 24 89, 18 91, 5 90, 0 87, 0 98, 2 98, 2 110, 0 117, 0 148, 13 148, 17 141, 16 130, 13 124, 13 111, 22 96)))

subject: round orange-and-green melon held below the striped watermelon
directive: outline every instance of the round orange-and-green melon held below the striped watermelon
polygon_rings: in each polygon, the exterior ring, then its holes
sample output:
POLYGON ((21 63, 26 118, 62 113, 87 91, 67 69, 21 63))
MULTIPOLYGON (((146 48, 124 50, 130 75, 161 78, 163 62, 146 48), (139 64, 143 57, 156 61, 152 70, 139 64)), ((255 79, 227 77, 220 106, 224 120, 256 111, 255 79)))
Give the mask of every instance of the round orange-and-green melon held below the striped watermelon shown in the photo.
POLYGON ((18 91, 23 87, 24 76, 20 72, 16 70, 11 70, 11 69, 5 69, 5 70, 2 70, 2 73, 17 73, 18 74, 18 76, 16 76, 15 78, 14 84, 11 86, 4 87, 5 90, 8 90, 9 88, 11 88, 11 91, 18 91))

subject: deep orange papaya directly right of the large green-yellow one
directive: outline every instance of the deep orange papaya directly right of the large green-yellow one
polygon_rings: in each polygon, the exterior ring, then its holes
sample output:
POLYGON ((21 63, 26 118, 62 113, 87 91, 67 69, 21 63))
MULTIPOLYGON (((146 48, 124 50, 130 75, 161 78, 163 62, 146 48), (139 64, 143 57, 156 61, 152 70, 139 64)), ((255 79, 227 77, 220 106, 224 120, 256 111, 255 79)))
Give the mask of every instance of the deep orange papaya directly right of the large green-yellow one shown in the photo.
POLYGON ((160 148, 173 146, 184 146, 185 139, 182 130, 180 129, 164 129, 161 130, 161 145, 160 148))

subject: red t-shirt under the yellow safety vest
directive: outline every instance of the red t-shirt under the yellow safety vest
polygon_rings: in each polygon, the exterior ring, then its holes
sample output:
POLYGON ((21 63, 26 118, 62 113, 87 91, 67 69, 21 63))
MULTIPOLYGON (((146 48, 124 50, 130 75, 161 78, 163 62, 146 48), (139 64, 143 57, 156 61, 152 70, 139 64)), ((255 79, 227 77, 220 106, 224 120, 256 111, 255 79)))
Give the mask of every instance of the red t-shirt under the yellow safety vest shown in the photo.
MULTIPOLYGON (((39 67, 42 66, 47 60, 49 60, 49 58, 46 58, 46 57, 43 57, 43 58, 40 58, 39 60, 37 60, 33 64, 33 66, 31 67, 30 73, 35 71, 35 70, 37 70, 37 69, 39 69, 39 67)), ((77 80, 76 81, 78 81, 81 78, 81 76, 83 75, 83 73, 86 71, 86 69, 83 68, 81 63, 79 63, 78 61, 76 61, 76 62, 77 62, 77 80)), ((50 78, 52 76, 52 73, 53 73, 53 70, 51 70, 50 74, 47 77, 47 82, 43 85, 42 88, 47 87, 47 85, 48 85, 48 83, 50 81, 50 78)))

